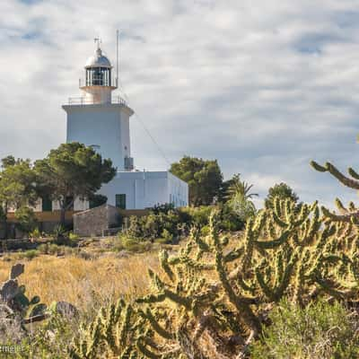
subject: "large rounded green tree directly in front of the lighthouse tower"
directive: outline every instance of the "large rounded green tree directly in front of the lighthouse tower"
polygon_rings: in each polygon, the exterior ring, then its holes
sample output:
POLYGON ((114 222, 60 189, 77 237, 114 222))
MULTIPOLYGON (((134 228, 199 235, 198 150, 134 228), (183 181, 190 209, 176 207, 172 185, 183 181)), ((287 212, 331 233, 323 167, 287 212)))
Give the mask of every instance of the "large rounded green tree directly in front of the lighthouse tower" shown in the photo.
POLYGON ((116 174, 110 160, 102 160, 92 147, 73 142, 61 144, 48 156, 35 162, 41 196, 56 200, 60 206, 60 223, 65 223, 66 210, 74 199, 88 199, 116 174))

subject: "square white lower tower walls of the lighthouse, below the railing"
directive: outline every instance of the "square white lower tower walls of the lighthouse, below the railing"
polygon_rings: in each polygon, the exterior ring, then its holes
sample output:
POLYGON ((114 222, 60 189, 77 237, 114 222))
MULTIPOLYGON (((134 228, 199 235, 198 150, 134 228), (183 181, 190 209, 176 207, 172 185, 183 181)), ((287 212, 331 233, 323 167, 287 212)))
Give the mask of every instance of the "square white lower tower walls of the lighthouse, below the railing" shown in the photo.
POLYGON ((132 109, 120 104, 65 105, 66 142, 100 146, 102 158, 111 159, 118 171, 130 157, 129 117, 132 109), (127 149, 125 149, 127 147, 127 149))

